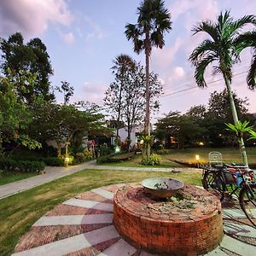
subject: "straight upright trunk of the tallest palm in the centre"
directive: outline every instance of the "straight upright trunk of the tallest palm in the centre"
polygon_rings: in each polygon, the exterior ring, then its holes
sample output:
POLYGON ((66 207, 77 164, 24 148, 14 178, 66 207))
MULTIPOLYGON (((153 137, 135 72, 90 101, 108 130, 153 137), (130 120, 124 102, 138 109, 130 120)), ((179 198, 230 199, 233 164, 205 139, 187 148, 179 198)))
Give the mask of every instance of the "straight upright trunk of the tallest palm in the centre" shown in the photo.
MULTIPOLYGON (((146 119, 145 131, 150 136, 150 95, 149 95, 149 54, 150 54, 150 39, 149 32, 146 33, 146 119)), ((147 145, 147 159, 150 157, 150 143, 147 145)))

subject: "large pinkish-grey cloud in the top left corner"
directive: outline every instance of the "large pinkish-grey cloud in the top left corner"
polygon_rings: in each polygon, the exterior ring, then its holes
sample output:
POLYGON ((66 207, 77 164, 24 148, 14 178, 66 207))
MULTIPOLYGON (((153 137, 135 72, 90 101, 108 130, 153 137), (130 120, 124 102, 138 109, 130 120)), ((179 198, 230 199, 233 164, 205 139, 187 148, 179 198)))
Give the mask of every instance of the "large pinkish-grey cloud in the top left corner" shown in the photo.
POLYGON ((8 0, 0 2, 0 33, 44 33, 49 22, 68 26, 73 17, 65 0, 8 0))

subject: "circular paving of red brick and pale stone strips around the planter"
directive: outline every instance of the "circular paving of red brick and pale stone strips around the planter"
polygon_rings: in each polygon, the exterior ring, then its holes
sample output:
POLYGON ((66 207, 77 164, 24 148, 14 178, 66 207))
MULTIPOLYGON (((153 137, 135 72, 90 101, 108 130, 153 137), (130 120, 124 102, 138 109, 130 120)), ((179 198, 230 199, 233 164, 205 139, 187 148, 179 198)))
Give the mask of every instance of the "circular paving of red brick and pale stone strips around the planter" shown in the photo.
MULTIPOLYGON (((113 194, 124 184, 92 189, 64 201, 32 225, 13 256, 153 256, 119 236, 113 226, 113 194)), ((251 256, 256 229, 238 208, 224 208, 224 239, 208 256, 251 256)))

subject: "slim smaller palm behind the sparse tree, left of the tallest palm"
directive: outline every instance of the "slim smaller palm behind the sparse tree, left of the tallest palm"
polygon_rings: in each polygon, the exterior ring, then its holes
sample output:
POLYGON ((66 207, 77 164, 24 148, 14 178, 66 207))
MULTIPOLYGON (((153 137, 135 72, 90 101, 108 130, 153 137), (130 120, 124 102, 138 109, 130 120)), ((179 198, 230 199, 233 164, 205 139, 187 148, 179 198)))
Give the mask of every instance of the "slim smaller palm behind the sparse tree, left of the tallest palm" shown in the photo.
POLYGON ((129 55, 118 55, 113 60, 113 73, 120 79, 120 86, 119 86, 119 104, 118 104, 118 119, 116 124, 116 138, 119 139, 119 122, 120 122, 120 115, 121 115, 121 99, 122 99, 122 90, 125 83, 125 76, 129 75, 129 72, 135 68, 135 62, 131 59, 129 55))

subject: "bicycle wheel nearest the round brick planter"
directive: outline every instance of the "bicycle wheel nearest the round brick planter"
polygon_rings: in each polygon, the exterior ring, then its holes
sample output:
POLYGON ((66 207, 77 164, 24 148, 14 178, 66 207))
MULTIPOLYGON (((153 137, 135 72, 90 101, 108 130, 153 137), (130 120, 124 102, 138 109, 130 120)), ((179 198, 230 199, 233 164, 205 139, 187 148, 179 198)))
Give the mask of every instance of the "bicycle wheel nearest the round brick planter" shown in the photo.
POLYGON ((204 189, 211 192, 213 195, 218 196, 220 201, 224 200, 224 181, 216 173, 206 172, 203 177, 202 184, 204 189))

